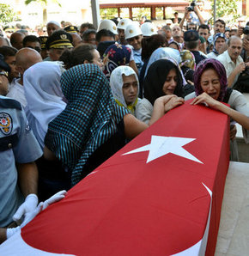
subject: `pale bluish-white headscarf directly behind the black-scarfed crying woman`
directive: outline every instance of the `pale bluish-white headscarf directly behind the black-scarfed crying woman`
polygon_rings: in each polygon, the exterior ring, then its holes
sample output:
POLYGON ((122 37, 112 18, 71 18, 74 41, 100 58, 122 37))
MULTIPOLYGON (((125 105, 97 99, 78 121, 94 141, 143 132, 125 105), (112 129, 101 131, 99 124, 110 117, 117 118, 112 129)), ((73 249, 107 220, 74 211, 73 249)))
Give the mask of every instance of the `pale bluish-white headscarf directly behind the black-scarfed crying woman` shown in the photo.
POLYGON ((154 52, 152 52, 150 58, 149 58, 149 63, 147 65, 147 68, 145 70, 144 77, 147 75, 147 72, 149 70, 149 66, 153 64, 156 60, 161 59, 161 58, 167 58, 171 57, 176 60, 176 62, 179 64, 180 61, 180 56, 179 56, 179 51, 173 48, 169 47, 160 47, 157 48, 154 52))

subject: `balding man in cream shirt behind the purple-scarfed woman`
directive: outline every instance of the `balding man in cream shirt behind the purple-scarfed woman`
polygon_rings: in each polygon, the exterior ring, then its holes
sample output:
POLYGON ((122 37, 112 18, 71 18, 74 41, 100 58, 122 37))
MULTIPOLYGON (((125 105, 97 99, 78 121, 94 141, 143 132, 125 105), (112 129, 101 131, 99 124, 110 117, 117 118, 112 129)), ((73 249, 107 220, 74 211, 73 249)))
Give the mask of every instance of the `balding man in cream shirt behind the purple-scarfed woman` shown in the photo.
POLYGON ((228 50, 217 57, 227 71, 228 87, 232 87, 240 73, 246 69, 246 64, 240 57, 241 51, 242 40, 237 36, 232 36, 228 40, 228 50))

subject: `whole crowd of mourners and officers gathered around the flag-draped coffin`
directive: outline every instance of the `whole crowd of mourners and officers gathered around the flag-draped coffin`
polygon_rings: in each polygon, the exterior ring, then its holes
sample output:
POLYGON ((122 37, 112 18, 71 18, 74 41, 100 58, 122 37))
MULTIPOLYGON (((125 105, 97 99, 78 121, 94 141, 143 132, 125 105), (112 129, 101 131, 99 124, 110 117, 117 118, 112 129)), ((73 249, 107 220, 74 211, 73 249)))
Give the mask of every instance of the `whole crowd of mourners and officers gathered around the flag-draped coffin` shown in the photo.
POLYGON ((249 27, 229 34, 217 19, 211 34, 195 6, 160 29, 114 19, 97 29, 50 21, 46 32, 0 36, 0 241, 186 100, 231 118, 239 160, 234 123, 247 140, 249 27))

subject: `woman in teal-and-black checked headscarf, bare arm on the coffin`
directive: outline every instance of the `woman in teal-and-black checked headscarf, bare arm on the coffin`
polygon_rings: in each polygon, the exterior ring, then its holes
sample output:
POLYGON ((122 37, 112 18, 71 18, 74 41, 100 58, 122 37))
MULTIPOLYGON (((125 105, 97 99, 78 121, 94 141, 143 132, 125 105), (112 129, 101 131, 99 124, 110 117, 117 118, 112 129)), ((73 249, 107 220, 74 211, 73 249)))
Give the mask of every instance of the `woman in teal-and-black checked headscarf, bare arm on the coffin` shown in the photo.
POLYGON ((68 168, 74 186, 148 125, 118 106, 96 64, 65 71, 61 87, 68 104, 48 125, 45 156, 55 155, 68 168))

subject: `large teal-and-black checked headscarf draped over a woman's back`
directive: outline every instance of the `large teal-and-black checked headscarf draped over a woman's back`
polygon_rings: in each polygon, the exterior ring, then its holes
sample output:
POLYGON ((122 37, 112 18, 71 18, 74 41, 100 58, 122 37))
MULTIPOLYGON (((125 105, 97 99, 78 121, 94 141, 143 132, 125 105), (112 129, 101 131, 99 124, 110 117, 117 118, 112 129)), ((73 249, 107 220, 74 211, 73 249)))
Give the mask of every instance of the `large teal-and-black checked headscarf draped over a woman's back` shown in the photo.
POLYGON ((48 126, 46 146, 70 168, 71 184, 81 180, 88 157, 117 131, 128 110, 119 107, 96 64, 80 64, 61 77, 67 107, 48 126))

